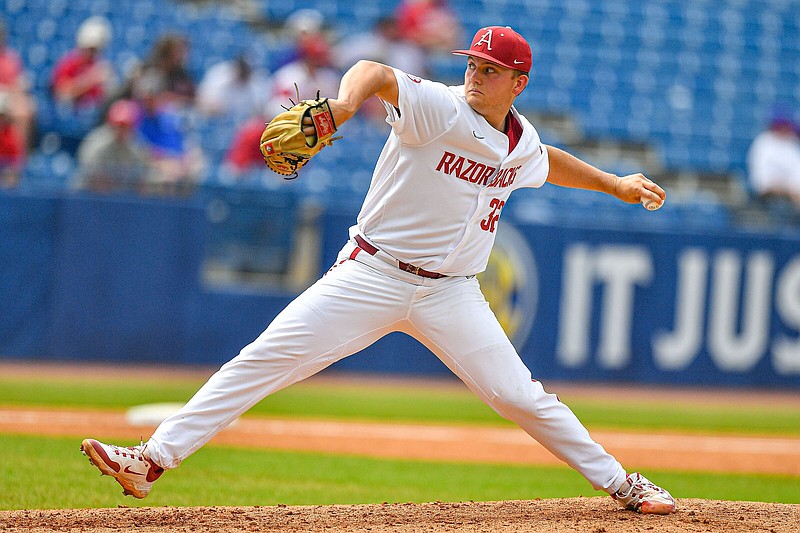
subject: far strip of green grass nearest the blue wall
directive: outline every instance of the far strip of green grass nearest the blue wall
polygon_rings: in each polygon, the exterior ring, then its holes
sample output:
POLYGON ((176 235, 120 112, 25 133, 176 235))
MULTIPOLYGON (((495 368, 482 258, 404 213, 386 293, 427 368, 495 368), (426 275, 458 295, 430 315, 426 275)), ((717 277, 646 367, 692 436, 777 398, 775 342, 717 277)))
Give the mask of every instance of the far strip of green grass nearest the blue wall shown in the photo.
MULTIPOLYGON (((0 405, 125 409, 151 402, 185 402, 197 379, 0 378, 0 405)), ((800 435, 800 407, 742 407, 701 402, 625 403, 621 398, 561 395, 590 428, 800 435), (742 421, 746 421, 745 424, 742 421)), ((303 382, 266 398, 248 416, 335 418, 414 423, 511 425, 466 387, 328 385, 303 382), (335 388, 334 388, 335 387, 335 388)))

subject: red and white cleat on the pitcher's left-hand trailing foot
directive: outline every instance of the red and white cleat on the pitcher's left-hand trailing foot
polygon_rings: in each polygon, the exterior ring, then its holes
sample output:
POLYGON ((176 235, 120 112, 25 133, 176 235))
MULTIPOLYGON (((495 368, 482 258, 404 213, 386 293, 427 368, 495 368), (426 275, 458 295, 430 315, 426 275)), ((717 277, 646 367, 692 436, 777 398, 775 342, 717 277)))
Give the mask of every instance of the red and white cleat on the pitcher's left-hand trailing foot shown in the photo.
POLYGON ((100 469, 100 474, 112 476, 122 485, 122 493, 134 498, 150 494, 153 483, 164 473, 163 468, 145 455, 146 448, 145 444, 123 448, 94 439, 85 439, 81 443, 81 451, 100 469))

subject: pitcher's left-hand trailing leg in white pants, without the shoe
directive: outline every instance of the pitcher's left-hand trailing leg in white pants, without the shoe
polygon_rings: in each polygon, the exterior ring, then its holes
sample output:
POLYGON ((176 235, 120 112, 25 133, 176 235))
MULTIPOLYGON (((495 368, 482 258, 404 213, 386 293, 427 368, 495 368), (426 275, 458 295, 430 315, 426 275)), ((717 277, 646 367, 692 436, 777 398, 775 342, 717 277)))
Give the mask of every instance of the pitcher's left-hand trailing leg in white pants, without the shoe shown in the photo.
POLYGON ((402 287, 348 261, 286 307, 223 365, 147 443, 149 457, 174 468, 264 397, 369 346, 393 330, 402 287), (382 283, 378 290, 376 283, 382 283))

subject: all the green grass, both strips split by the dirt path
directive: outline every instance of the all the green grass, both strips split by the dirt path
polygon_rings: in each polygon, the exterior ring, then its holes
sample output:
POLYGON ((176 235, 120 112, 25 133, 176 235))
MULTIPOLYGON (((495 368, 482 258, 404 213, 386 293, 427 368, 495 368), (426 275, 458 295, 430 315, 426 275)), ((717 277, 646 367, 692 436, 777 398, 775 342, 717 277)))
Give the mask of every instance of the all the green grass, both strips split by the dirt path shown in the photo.
MULTIPOLYGON (((149 402, 184 402, 202 379, 145 382, 91 375, 53 379, 0 377, 0 406, 123 410, 149 402)), ((562 395, 590 428, 669 429, 738 434, 800 434, 800 408, 742 408, 708 402, 632 402, 562 395), (742 421, 745 425, 741 425, 742 421)), ((255 406, 249 416, 415 423, 510 425, 465 387, 330 384, 306 381, 255 406)), ((102 435, 98 435, 102 438, 102 435)), ((209 445, 159 480, 144 501, 121 488, 78 451, 78 439, 0 434, 0 509, 275 505, 505 500, 601 496, 567 467, 381 460, 209 445), (11 459, 13 458, 13 460, 11 459)), ((628 465, 636 468, 636 465, 628 465)), ((800 503, 792 476, 647 471, 677 497, 800 503)))

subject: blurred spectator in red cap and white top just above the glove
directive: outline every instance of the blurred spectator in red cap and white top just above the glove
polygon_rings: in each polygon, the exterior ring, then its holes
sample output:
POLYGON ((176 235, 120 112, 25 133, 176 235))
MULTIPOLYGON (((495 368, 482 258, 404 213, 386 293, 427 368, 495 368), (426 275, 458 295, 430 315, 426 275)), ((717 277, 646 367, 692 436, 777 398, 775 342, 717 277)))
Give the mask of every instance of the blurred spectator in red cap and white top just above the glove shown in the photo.
POLYGON ((272 77, 272 95, 267 107, 270 117, 283 111, 281 106, 291 105, 290 99, 306 100, 321 96, 335 98, 339 92, 341 74, 334 68, 331 47, 321 33, 308 34, 297 43, 297 60, 275 71, 272 77), (297 90, 295 89, 297 86, 297 90))

